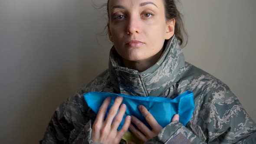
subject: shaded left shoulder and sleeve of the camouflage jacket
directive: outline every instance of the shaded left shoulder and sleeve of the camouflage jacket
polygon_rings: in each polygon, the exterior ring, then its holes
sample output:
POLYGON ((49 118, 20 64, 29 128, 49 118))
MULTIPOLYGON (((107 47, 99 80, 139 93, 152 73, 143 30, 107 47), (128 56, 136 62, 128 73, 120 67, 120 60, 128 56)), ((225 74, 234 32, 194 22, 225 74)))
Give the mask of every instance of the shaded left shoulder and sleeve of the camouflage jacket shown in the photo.
POLYGON ((72 143, 89 120, 96 115, 89 108, 84 93, 101 92, 108 86, 108 70, 105 70, 74 95, 64 101, 54 112, 41 143, 72 143))

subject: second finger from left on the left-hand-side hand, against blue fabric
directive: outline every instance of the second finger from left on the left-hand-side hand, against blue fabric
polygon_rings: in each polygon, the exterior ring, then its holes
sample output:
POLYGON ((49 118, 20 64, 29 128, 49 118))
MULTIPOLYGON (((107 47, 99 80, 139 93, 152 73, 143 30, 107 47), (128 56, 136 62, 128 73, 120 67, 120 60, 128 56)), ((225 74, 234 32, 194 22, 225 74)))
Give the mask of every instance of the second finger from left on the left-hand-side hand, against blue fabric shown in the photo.
POLYGON ((110 108, 110 110, 108 111, 108 116, 106 118, 105 121, 105 125, 111 125, 113 118, 115 117, 119 106, 121 105, 123 101, 123 97, 118 96, 117 98, 115 98, 114 104, 112 105, 112 107, 110 108))

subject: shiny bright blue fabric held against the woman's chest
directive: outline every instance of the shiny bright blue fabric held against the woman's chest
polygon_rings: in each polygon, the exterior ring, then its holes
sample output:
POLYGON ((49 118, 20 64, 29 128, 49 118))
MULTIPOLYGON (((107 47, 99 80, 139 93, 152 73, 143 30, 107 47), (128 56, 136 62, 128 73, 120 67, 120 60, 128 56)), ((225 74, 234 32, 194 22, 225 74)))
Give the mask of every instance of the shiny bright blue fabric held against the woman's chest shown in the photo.
POLYGON ((112 100, 106 115, 108 115, 108 111, 113 105, 115 98, 117 96, 123 97, 124 99, 122 103, 126 105, 126 111, 118 130, 122 128, 127 115, 135 116, 146 124, 148 128, 151 128, 144 116, 139 111, 139 105, 144 105, 163 128, 171 122, 171 119, 175 114, 180 116, 180 122, 185 126, 187 122, 190 121, 195 108, 193 92, 190 91, 184 92, 174 99, 154 96, 131 96, 105 92, 90 92, 84 94, 83 96, 89 107, 92 108, 96 114, 98 113, 98 110, 105 98, 111 97, 112 100))

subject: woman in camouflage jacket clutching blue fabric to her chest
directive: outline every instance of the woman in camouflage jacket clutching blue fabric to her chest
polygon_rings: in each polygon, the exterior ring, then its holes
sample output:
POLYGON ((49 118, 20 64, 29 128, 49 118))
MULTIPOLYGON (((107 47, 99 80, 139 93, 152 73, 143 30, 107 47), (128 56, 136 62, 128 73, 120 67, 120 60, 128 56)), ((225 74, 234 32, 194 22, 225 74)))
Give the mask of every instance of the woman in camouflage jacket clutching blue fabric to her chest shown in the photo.
POLYGON ((117 144, 128 128, 146 144, 256 142, 256 124, 230 89, 184 61, 180 45, 187 40, 174 0, 108 0, 107 10, 108 36, 114 43, 109 68, 56 109, 42 144, 117 144), (111 92, 175 98, 186 91, 194 92, 196 106, 186 126, 175 115, 162 128, 140 107, 152 130, 128 116, 117 131, 125 111, 122 98, 115 99, 104 120, 110 99, 96 115, 82 96, 111 92))

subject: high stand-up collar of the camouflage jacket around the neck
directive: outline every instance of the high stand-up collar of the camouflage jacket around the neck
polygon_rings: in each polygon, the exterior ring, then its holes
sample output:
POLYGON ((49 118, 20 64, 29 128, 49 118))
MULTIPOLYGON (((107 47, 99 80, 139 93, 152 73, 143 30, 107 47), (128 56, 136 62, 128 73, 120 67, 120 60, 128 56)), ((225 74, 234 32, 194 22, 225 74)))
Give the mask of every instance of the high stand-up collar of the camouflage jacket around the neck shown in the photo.
POLYGON ((144 72, 121 66, 121 56, 110 50, 109 71, 112 86, 117 93, 138 96, 164 96, 184 72, 184 55, 173 36, 166 44, 161 58, 144 72))

